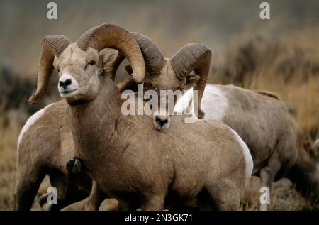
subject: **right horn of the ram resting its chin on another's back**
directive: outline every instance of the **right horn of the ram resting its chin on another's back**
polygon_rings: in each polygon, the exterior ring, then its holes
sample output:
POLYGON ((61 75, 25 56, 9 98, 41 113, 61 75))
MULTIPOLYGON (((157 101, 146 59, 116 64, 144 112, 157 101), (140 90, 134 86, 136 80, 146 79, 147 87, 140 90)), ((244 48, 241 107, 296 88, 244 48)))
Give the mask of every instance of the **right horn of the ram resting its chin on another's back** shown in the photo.
POLYGON ((211 67, 211 50, 201 43, 189 43, 171 57, 172 67, 179 79, 184 79, 194 70, 200 76, 194 90, 198 90, 198 118, 205 116, 201 110, 201 98, 211 67))

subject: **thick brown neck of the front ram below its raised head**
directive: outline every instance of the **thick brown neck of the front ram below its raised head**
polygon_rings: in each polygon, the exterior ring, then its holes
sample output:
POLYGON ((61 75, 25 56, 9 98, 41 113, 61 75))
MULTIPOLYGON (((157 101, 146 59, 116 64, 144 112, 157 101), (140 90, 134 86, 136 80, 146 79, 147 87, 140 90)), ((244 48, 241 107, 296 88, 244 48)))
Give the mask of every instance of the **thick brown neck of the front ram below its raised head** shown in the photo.
POLYGON ((111 80, 101 82, 96 99, 69 106, 69 109, 76 154, 84 160, 84 164, 86 160, 99 162, 101 157, 105 158, 116 151, 111 145, 116 138, 114 132, 118 121, 123 121, 123 116, 120 92, 111 80))

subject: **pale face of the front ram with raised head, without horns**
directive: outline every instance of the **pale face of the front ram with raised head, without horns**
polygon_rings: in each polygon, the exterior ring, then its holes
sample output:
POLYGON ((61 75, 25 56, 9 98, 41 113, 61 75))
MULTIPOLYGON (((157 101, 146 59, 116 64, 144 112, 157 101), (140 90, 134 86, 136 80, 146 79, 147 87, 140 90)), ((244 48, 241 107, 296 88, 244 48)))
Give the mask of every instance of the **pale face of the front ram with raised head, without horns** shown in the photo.
POLYGON ((102 62, 94 48, 81 50, 76 43, 55 57, 53 63, 59 74, 57 89, 67 101, 90 101, 97 95, 102 62))

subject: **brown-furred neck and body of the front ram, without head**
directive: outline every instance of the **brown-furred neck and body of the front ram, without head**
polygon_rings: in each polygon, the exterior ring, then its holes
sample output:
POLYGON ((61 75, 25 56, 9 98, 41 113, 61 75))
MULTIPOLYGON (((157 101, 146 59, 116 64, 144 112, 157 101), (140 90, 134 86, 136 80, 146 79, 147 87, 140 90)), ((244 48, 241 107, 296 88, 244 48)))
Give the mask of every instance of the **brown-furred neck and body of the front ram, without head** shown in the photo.
POLYGON ((187 202, 206 191, 212 207, 239 209, 246 163, 228 126, 174 117, 169 133, 159 132, 152 116, 123 116, 120 95, 100 78, 96 99, 69 106, 76 156, 103 192, 160 210, 171 194, 187 202))

